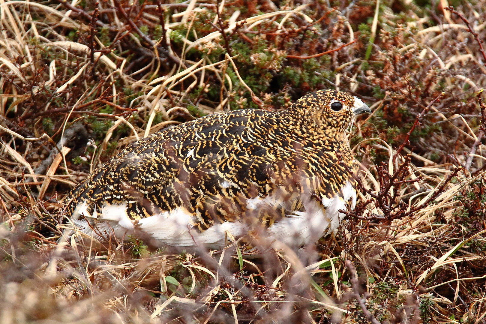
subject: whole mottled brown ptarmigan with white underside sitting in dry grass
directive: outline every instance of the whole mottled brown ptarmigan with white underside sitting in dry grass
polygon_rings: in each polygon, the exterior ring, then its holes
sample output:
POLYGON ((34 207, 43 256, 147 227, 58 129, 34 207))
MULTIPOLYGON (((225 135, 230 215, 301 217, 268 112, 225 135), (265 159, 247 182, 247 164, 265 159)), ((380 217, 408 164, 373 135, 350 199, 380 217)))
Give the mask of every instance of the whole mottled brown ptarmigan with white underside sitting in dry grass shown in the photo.
POLYGON ((281 112, 228 111, 161 130, 74 188, 69 212, 95 237, 136 228, 168 245, 218 246, 227 232, 263 231, 313 243, 356 204, 345 130, 364 112, 360 99, 320 90, 281 112))

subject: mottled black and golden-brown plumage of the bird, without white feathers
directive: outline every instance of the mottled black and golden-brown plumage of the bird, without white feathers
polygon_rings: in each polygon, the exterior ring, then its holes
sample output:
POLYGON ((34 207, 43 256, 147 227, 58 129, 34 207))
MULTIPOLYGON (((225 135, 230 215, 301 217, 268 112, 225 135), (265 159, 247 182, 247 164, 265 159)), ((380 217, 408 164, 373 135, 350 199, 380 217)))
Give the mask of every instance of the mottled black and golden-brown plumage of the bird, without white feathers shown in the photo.
POLYGON ((69 193, 69 210, 127 202, 132 220, 184 207, 200 232, 237 220, 270 226, 301 210, 304 196, 342 196, 347 181, 354 187, 357 166, 344 135, 353 105, 346 93, 321 90, 282 112, 235 110, 158 131, 93 171, 69 193), (334 112, 333 100, 347 108, 334 112), (282 204, 247 206, 269 195, 282 204))

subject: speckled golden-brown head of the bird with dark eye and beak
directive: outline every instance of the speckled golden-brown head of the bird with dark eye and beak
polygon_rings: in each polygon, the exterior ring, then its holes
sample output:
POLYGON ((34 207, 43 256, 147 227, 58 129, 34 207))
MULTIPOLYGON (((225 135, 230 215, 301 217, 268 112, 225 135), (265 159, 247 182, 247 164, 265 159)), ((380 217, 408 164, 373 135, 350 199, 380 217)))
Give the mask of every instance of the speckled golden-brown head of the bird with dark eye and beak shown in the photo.
MULTIPOLYGON (((319 90, 297 100, 294 107, 313 127, 329 134, 343 134, 356 116, 371 113, 359 98, 332 89, 319 90)), ((291 108, 292 109, 292 108, 291 108)))

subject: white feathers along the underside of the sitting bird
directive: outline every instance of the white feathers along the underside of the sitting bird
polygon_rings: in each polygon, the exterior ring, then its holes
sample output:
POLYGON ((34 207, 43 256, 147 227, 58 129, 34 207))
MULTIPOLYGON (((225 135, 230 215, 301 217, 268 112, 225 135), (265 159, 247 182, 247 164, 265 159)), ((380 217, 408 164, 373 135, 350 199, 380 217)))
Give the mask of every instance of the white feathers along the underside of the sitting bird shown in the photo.
MULTIPOLYGON (((268 229, 270 239, 289 245, 299 247, 313 243, 324 235, 331 233, 339 227, 344 214, 338 210, 346 209, 349 202, 351 209, 356 205, 356 190, 349 182, 343 188, 344 199, 335 196, 332 199, 322 199, 325 209, 321 208, 313 199, 304 203, 306 211, 295 211, 288 217, 275 222, 268 229)), ((277 203, 272 197, 254 198, 247 201, 249 208, 258 208, 262 205, 273 205, 277 203)), ((87 211, 86 203, 78 205, 73 214, 74 222, 80 229, 95 238, 100 239, 100 235, 106 235, 113 230, 119 238, 126 237, 134 230, 134 221, 130 220, 126 214, 126 203, 120 205, 105 204, 99 210, 94 210, 93 214, 87 211), (111 221, 97 222, 97 230, 88 225, 88 219, 98 219, 111 221)), ((173 246, 194 246, 194 245, 224 245, 226 232, 234 237, 245 234, 246 228, 242 222, 224 222, 213 225, 208 230, 197 233, 190 230, 189 224, 191 215, 184 208, 176 208, 170 212, 163 212, 151 217, 141 219, 137 223, 137 228, 151 235, 154 239, 173 246)))

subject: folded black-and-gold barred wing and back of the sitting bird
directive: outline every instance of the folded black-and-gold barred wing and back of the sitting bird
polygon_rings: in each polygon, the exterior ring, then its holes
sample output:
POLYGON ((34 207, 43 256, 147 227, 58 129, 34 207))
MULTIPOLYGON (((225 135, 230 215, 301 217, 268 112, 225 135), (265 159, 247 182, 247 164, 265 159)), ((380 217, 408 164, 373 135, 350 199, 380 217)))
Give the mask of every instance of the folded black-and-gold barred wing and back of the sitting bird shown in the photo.
POLYGON ((271 161, 261 135, 274 125, 267 114, 243 110, 213 115, 135 142, 73 189, 71 212, 83 205, 92 215, 96 206, 126 203, 128 216, 139 219, 177 207, 210 214, 207 209, 214 202, 220 214, 220 206, 245 196, 250 187, 245 179, 267 187, 265 168, 271 161))

